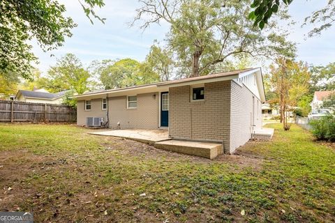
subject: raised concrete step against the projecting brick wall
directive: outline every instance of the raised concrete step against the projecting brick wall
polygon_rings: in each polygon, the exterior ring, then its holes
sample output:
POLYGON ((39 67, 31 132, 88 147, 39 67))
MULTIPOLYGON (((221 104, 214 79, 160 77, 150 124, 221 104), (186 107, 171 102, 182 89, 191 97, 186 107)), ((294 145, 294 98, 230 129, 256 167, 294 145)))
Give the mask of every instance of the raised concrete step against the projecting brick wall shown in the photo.
POLYGON ((168 141, 156 142, 154 146, 166 151, 196 155, 211 160, 223 153, 222 144, 204 141, 184 141, 172 139, 168 141))

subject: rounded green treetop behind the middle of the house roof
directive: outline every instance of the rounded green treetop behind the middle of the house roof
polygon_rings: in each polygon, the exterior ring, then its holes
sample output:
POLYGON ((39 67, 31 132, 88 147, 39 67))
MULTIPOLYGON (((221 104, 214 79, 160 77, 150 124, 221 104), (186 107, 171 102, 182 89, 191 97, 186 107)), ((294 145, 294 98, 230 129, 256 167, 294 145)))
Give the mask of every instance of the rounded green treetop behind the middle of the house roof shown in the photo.
POLYGON ((116 89, 158 82, 159 75, 148 63, 121 59, 102 68, 100 80, 105 89, 116 89))

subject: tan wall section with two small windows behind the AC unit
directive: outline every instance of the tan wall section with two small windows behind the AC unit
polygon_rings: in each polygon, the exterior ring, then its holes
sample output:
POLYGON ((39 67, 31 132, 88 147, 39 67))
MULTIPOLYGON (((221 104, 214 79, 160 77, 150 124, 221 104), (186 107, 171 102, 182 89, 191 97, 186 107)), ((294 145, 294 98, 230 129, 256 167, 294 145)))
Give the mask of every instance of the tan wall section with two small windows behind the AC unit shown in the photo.
POLYGON ((86 125, 87 117, 102 117, 107 118, 107 111, 102 109, 101 98, 91 100, 91 110, 85 111, 85 101, 77 101, 77 125, 86 125))

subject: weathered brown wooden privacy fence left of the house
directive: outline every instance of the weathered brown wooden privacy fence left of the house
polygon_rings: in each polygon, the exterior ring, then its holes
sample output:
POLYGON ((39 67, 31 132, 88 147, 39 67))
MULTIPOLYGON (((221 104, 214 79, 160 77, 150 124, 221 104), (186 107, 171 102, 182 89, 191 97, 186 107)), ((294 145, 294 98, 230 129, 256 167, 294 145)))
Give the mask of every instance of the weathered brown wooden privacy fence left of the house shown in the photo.
POLYGON ((0 100, 1 122, 75 122, 77 112, 66 105, 0 100))

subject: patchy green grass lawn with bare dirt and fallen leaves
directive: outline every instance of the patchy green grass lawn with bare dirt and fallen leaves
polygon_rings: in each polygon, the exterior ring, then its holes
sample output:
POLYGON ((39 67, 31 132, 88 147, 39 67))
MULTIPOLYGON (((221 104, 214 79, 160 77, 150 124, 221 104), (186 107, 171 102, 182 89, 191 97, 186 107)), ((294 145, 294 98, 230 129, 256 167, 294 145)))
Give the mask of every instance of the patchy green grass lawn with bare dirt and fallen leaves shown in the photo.
POLYGON ((335 222, 335 151, 296 125, 216 160, 0 124, 0 211, 36 222, 335 222), (145 196, 144 196, 145 195, 145 196))

